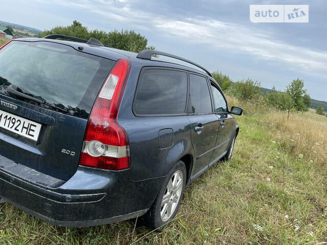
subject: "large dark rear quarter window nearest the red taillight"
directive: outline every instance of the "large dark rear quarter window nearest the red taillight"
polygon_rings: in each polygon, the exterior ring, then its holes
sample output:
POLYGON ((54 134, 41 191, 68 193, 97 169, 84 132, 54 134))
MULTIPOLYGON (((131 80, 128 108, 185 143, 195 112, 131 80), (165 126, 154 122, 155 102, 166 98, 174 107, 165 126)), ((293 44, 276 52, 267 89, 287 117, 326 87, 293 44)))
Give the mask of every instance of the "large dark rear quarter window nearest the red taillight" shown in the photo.
POLYGON ((146 69, 139 78, 133 111, 137 115, 182 114, 186 107, 188 76, 168 69, 146 69))

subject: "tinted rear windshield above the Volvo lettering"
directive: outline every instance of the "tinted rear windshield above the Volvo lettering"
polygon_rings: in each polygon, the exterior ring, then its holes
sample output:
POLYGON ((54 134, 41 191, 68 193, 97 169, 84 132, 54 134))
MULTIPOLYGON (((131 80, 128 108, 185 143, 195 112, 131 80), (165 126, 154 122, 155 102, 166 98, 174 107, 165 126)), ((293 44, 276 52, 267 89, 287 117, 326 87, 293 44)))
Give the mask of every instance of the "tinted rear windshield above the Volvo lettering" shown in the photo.
POLYGON ((68 45, 13 41, 0 51, 0 94, 14 96, 7 93, 13 84, 45 102, 39 106, 87 118, 114 63, 68 45))

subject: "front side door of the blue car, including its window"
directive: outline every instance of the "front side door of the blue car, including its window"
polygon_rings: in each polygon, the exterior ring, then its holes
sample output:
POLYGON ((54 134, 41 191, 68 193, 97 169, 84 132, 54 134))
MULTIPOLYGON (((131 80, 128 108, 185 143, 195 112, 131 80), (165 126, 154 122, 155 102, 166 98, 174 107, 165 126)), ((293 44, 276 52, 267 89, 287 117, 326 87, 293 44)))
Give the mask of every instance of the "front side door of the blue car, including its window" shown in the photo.
POLYGON ((214 82, 210 82, 213 95, 214 110, 219 119, 218 137, 211 162, 216 162, 223 157, 228 149, 230 139, 233 134, 233 117, 229 114, 228 105, 222 91, 214 82))

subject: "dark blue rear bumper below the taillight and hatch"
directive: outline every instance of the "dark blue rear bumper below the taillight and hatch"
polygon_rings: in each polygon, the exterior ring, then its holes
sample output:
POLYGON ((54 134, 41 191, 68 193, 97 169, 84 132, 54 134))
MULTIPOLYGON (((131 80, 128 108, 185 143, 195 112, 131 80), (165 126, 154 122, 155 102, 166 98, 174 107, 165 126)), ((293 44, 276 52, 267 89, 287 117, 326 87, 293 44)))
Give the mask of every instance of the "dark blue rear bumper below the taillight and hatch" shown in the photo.
MULTIPOLYGON (((39 181, 8 171, 0 158, 0 198, 46 222, 66 227, 88 227, 143 215, 152 205, 163 178, 132 181, 130 170, 108 171, 78 167, 68 181, 56 181, 38 172, 39 181), (7 170, 7 171, 6 171, 7 170), (11 172, 11 173, 10 173, 11 172)), ((20 170, 21 170, 20 169, 20 170)), ((35 170, 33 170, 35 171, 35 170)))

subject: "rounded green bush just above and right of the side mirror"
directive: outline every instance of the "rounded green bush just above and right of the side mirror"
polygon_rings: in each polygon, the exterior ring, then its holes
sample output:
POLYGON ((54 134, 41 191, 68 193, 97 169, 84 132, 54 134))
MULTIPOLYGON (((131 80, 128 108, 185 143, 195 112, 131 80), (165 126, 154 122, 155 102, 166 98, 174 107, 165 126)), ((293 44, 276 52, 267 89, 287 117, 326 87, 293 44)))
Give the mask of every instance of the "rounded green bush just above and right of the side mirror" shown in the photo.
POLYGON ((261 95, 261 83, 251 79, 242 79, 233 84, 231 93, 240 100, 259 99, 261 95))

